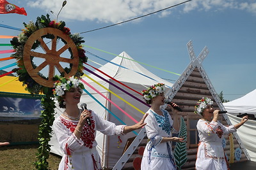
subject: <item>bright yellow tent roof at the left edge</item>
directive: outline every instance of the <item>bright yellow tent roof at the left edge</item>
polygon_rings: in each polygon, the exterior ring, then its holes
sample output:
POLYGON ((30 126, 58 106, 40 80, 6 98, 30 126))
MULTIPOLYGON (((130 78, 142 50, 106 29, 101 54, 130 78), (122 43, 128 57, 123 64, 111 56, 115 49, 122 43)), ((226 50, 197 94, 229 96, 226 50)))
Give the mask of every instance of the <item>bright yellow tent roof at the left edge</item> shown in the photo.
POLYGON ((0 87, 0 92, 29 94, 29 92, 25 90, 25 87, 22 86, 22 82, 20 82, 17 79, 17 77, 14 77, 14 76, 3 76, 3 77, 1 77, 0 78, 0 85, 3 85, 3 86, 0 87), (16 80, 14 80, 15 78, 16 78, 16 80), (6 83, 6 82, 9 82, 9 83, 6 83), (4 83, 6 83, 6 84, 3 85, 4 83))

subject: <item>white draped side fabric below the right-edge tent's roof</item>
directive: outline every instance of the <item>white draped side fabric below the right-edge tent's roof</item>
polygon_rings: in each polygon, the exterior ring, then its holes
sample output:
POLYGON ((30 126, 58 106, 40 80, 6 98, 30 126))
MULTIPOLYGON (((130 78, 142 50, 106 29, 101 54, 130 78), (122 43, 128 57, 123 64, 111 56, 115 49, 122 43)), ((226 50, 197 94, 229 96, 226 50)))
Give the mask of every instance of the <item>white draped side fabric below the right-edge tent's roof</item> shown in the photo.
MULTIPOLYGON (((241 118, 231 114, 227 114, 232 124, 238 124, 241 118)), ((239 138, 243 141, 247 152, 250 155, 252 161, 256 162, 256 121, 247 120, 244 125, 237 129, 239 138)))

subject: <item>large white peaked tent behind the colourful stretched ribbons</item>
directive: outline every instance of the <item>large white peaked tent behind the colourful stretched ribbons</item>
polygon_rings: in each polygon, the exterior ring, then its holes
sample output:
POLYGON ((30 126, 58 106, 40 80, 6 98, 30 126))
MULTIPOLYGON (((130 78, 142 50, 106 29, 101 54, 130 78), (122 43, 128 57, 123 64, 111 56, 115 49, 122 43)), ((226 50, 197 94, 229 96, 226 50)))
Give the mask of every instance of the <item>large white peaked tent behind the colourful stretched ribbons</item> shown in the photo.
MULTIPOLYGON (((154 83, 164 83, 168 87, 172 87, 172 83, 165 81, 158 76, 156 76, 153 73, 150 73, 147 69, 142 67, 137 62, 133 62, 132 58, 125 52, 120 53, 120 56, 116 56, 115 59, 111 60, 111 62, 114 62, 115 64, 118 64, 120 66, 113 65, 111 63, 107 63, 104 66, 100 67, 99 70, 103 71, 104 73, 108 74, 109 76, 115 78, 118 81, 121 81, 128 87, 131 87, 132 89, 141 92, 141 90, 146 89, 150 85, 153 85, 154 83), (124 57, 124 58, 123 58, 124 57), (127 58, 127 59, 125 59, 127 58), (128 68, 125 69, 124 67, 128 68), (147 75, 147 76, 143 76, 147 75), (148 78, 150 77, 150 78, 148 78)), ((88 67, 88 69, 91 69, 88 67)), ((99 73, 99 71, 93 71, 96 74, 99 74, 106 80, 110 81, 111 83, 114 83, 115 85, 118 85, 118 87, 126 90, 127 92, 131 93, 132 95, 138 97, 143 101, 143 97, 140 94, 137 94, 136 92, 127 89, 127 87, 124 87, 116 81, 108 78, 107 76, 104 76, 102 73, 99 73)), ((145 104, 140 103, 136 99, 132 98, 131 96, 125 94, 121 90, 116 89, 113 85, 110 85, 108 82, 101 80, 97 76, 93 74, 88 74, 93 80, 100 83, 100 85, 103 85, 107 89, 111 90, 118 96, 122 97, 122 99, 125 99, 132 105, 136 106, 136 108, 140 109, 145 113, 145 111, 148 110, 148 106, 145 104)), ((95 89, 99 90, 100 93, 104 94, 104 96, 108 97, 111 101, 113 101, 115 104, 117 104, 122 110, 124 110, 126 113, 129 113, 131 117, 136 119, 137 121, 140 121, 141 117, 143 117, 143 113, 140 111, 132 108, 132 106, 129 106, 129 104, 125 103, 124 101, 118 99, 115 95, 108 92, 108 90, 103 89, 98 85, 97 83, 93 82, 89 78, 83 78, 84 81, 90 83, 95 89)), ((113 104, 109 103, 108 100, 104 99, 104 97, 100 96, 97 92, 90 89, 88 86, 84 85, 85 89, 92 94, 93 97, 95 97, 99 103, 103 104, 108 108, 112 113, 114 113, 118 118, 120 118, 125 124, 132 125, 134 122, 124 115, 124 113, 120 110, 118 110, 113 104)), ((90 97, 88 94, 83 94, 81 98, 81 103, 86 103, 88 106, 88 109, 95 111, 100 117, 109 120, 111 122, 114 122, 117 125, 120 125, 120 123, 113 115, 111 115, 108 111, 106 111, 102 106, 100 106, 99 103, 95 102, 92 97, 90 97)), ((62 113, 62 110, 60 108, 56 108, 57 115, 60 115, 62 113)), ((137 131, 138 133, 139 131, 137 131)), ((136 136, 133 132, 130 132, 129 134, 126 134, 125 136, 120 136, 122 139, 122 143, 120 146, 118 146, 118 136, 104 136, 102 133, 97 132, 96 140, 98 143, 97 150, 100 154, 100 157, 102 158, 102 167, 113 167, 115 166, 115 163, 117 160, 121 157, 122 152, 124 151, 124 146, 126 144, 126 141, 128 138, 131 138, 133 136, 136 136)), ((56 153, 58 155, 63 155, 63 153, 60 150, 60 147, 58 146, 58 143, 56 143, 56 139, 53 137, 51 139, 51 152, 56 153)))

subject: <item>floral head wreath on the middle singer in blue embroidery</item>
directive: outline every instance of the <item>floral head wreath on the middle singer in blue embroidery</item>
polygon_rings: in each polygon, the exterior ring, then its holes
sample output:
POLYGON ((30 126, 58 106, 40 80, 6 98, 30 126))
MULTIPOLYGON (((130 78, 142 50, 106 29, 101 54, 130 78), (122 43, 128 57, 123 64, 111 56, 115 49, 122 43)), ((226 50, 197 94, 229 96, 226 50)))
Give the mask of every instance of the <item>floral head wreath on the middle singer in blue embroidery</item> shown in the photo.
POLYGON ((151 87, 148 87, 147 90, 142 90, 141 94, 143 94, 143 98, 149 104, 153 97, 156 97, 163 92, 164 92, 164 84, 157 83, 155 85, 152 85, 151 87))

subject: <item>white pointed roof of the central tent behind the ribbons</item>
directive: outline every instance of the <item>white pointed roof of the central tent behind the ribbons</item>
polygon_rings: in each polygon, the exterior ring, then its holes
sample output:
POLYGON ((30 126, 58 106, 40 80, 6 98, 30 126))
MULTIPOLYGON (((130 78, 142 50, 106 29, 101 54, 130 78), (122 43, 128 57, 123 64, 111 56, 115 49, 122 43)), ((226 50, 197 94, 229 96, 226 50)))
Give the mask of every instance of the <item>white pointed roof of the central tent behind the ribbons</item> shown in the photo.
MULTIPOLYGON (((169 87, 172 87, 173 83, 170 83, 169 81, 159 78, 159 76, 156 76, 156 74, 151 73, 137 62, 134 62, 132 57, 130 57, 126 52, 120 53, 120 56, 122 57, 116 56, 113 60, 111 60, 111 62, 114 62, 115 64, 118 64, 120 66, 116 66, 108 62, 104 66, 100 67, 99 70, 115 78, 116 80, 122 82, 138 84, 140 84, 140 82, 143 82, 143 85, 148 86, 153 85, 156 82, 159 82, 164 83, 169 87), (124 59, 123 57, 127 59, 124 59), (127 67, 129 69, 125 69, 124 67, 127 67), (145 74, 154 80, 147 78, 146 76, 143 76, 140 73, 145 74)), ((94 71, 94 73, 99 74, 103 78, 106 78, 106 80, 109 80, 107 76, 102 75, 102 73, 99 73, 99 71, 94 71)), ((100 78, 94 76, 93 74, 89 74, 89 76, 96 81, 102 81, 100 78)), ((87 82, 92 82, 92 80, 88 80, 88 78, 84 78, 84 80, 86 80, 87 82)))

